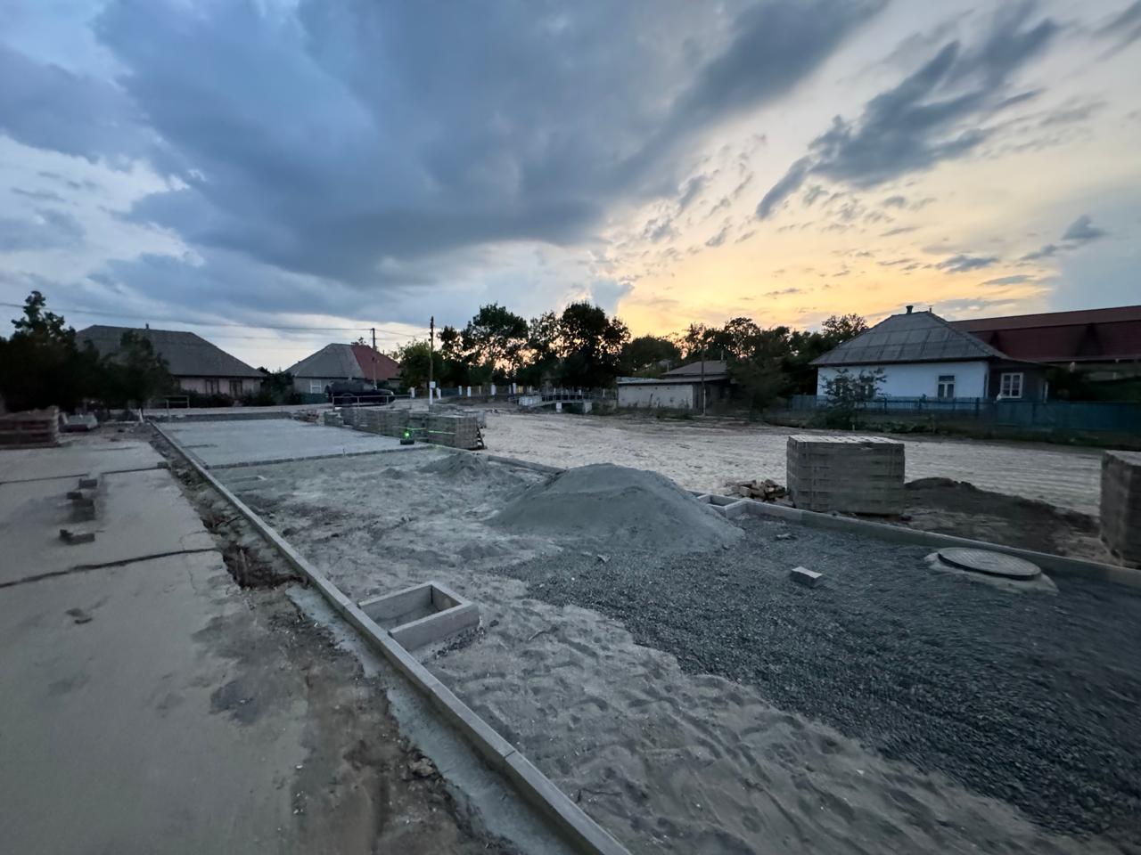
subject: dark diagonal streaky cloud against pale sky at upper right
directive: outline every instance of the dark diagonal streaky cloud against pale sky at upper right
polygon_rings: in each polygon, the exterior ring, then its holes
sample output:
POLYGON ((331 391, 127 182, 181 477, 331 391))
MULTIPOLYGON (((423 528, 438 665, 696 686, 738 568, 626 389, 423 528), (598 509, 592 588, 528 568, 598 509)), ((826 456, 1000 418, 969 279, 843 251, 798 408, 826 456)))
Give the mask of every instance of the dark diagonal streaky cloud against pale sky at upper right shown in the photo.
POLYGON ((1033 11, 1030 3, 1003 7, 973 47, 946 43, 858 119, 833 119, 762 197, 756 215, 770 217, 809 176, 874 187, 973 152, 988 137, 985 120, 1034 96, 1012 91, 1011 78, 1060 27, 1049 18, 1031 24, 1033 11))

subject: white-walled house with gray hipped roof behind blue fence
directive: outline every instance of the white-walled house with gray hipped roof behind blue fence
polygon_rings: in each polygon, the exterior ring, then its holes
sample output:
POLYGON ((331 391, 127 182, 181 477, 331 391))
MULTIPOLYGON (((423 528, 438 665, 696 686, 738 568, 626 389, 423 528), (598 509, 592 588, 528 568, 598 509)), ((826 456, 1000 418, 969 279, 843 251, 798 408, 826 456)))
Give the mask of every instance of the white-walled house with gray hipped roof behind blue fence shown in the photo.
POLYGON ((884 398, 1029 399, 1044 397, 1044 367, 1011 359, 930 311, 892 315, 812 360, 816 392, 840 370, 882 369, 884 398))

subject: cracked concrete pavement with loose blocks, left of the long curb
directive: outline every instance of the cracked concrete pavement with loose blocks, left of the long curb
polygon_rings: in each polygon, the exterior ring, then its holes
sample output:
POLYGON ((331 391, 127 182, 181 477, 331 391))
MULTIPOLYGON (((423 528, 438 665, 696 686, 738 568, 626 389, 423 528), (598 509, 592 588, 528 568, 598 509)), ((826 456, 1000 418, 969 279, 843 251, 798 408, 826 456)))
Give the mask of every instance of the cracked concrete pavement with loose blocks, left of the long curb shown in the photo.
POLYGON ((0 453, 22 479, 0 483, 6 852, 500 850, 438 777, 398 783, 383 692, 283 591, 234 585, 149 446, 84 439, 0 453), (73 522, 62 475, 112 458, 141 471, 73 522))

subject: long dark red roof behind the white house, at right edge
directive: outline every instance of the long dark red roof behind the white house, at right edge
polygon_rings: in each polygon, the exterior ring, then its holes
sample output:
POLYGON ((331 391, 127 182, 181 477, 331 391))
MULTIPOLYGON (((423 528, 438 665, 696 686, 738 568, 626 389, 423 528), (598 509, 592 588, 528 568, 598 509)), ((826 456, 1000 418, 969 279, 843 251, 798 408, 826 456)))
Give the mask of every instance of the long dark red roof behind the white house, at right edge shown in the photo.
POLYGON ((1141 306, 955 320, 1012 359, 1101 363, 1141 359, 1141 306))

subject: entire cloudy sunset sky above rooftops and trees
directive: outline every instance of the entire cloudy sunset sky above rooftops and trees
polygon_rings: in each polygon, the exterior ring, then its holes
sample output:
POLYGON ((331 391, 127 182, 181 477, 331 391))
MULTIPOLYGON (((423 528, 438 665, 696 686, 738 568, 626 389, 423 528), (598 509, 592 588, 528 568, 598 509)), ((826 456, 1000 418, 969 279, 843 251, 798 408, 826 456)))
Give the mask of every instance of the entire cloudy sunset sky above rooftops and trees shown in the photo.
POLYGON ((1139 303, 1139 76, 1141 0, 0 0, 0 317, 274 369, 1139 303))

